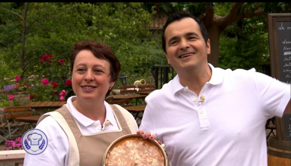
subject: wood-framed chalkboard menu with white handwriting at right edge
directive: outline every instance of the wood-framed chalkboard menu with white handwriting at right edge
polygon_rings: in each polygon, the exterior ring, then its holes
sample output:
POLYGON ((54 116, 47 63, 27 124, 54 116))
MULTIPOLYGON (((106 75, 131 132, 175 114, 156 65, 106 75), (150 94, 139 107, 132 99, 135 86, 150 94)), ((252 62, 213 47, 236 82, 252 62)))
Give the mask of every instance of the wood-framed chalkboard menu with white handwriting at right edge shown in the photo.
MULTIPOLYGON (((268 14, 271 76, 291 83, 291 14, 268 14)), ((291 116, 276 117, 278 140, 291 140, 291 116)))

